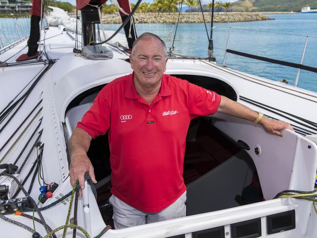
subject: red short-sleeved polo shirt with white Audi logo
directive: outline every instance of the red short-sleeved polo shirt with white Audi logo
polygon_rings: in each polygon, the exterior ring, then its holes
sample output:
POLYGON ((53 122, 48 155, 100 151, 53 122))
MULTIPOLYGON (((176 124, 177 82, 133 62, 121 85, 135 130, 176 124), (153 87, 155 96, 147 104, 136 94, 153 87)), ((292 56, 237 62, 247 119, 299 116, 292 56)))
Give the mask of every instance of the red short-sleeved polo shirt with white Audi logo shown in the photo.
POLYGON ((96 138, 109 128, 112 194, 144 212, 158 212, 186 190, 183 163, 191 119, 214 114, 220 96, 163 75, 149 105, 133 74, 107 84, 77 127, 96 138))

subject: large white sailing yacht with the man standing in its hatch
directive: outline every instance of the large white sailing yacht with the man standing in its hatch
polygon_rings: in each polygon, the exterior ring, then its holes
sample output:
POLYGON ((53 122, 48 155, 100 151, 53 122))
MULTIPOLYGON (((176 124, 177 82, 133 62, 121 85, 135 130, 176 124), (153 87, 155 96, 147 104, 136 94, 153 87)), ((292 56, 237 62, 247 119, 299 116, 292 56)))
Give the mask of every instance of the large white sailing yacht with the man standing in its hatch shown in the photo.
POLYGON ((221 113, 193 119, 183 175, 187 216, 121 230, 108 226, 106 134, 88 151, 99 182, 88 180, 83 197, 74 201, 72 131, 104 85, 132 72, 125 48, 104 44, 113 58, 92 60, 73 52, 77 39, 62 25, 50 26, 42 31, 42 58, 24 63, 16 59, 26 53, 26 40, 0 49, 1 237, 316 237, 317 93, 175 54, 167 74, 285 120, 295 132, 285 130, 280 138, 221 113), (260 186, 250 185, 257 178, 260 186), (42 199, 39 188, 45 184, 52 197, 42 199))

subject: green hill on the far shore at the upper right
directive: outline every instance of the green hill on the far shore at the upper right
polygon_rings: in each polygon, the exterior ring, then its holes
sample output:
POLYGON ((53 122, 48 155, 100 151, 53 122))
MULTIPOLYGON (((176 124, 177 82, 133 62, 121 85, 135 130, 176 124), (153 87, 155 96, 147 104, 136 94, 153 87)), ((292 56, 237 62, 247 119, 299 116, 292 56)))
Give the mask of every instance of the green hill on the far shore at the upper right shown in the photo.
POLYGON ((300 12, 302 7, 317 9, 316 0, 238 0, 231 3, 232 11, 300 12))

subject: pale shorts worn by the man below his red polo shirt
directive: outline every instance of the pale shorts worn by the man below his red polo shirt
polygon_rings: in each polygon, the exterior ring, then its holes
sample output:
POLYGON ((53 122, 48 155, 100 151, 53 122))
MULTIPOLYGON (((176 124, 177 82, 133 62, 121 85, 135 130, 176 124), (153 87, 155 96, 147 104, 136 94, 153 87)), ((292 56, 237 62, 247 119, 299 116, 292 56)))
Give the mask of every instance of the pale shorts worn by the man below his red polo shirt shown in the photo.
POLYGON ((135 209, 116 196, 109 199, 113 206, 115 229, 138 226, 162 220, 182 218, 186 216, 186 191, 171 205, 157 213, 145 213, 135 209))

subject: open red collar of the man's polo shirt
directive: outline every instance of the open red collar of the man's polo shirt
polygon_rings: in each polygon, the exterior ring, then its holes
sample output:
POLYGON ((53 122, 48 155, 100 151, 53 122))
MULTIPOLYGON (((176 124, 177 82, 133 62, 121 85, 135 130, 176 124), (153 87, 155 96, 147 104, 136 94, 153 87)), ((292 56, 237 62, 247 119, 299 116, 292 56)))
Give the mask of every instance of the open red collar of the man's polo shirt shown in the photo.
MULTIPOLYGON (((128 99, 139 99, 139 94, 134 86, 133 78, 134 78, 134 72, 132 72, 132 74, 129 75, 124 96, 128 99)), ((158 94, 162 97, 172 95, 172 89, 170 85, 168 84, 168 79, 165 74, 163 74, 162 84, 158 94)))

